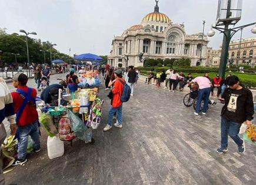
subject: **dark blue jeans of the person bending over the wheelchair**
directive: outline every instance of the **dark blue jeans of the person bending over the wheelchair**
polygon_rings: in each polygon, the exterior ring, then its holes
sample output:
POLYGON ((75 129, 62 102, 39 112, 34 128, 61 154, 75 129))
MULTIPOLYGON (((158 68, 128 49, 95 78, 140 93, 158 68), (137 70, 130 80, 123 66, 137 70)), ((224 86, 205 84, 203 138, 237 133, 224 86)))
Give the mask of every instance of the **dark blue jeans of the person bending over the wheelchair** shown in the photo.
POLYGON ((197 105, 195 107, 196 113, 200 112, 200 107, 203 99, 204 99, 204 107, 202 107, 202 112, 206 113, 210 93, 211 93, 211 88, 204 88, 204 89, 198 90, 197 105))

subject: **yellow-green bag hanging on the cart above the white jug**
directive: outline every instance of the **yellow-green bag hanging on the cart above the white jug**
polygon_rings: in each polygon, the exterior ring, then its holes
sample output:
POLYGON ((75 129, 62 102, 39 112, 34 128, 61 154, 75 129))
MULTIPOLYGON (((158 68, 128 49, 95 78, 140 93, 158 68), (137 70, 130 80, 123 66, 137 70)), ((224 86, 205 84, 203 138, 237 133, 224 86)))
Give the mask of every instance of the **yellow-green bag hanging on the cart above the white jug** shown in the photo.
POLYGON ((42 113, 42 115, 39 117, 39 122, 45 128, 48 136, 54 137, 56 134, 58 134, 58 131, 56 130, 54 122, 52 121, 52 117, 49 115, 49 113, 42 113))

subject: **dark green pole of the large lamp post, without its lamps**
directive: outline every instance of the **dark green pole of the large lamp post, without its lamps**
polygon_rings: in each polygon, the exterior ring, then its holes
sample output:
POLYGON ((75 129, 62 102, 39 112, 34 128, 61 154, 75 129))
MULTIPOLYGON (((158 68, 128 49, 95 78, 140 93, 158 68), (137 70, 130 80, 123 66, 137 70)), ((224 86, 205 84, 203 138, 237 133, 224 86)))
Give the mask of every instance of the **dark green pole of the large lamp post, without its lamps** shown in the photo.
MULTIPOLYGON (((230 18, 231 16, 231 0, 228 0, 228 7, 227 7, 227 15, 226 18, 230 18)), ((220 62, 220 68, 219 73, 222 79, 225 78, 225 71, 227 66, 227 60, 228 60, 228 46, 230 45, 230 39, 231 39, 231 30, 228 29, 228 25, 230 25, 230 22, 224 22, 225 28, 224 28, 224 36, 222 41, 222 50, 221 50, 221 62, 220 62)))

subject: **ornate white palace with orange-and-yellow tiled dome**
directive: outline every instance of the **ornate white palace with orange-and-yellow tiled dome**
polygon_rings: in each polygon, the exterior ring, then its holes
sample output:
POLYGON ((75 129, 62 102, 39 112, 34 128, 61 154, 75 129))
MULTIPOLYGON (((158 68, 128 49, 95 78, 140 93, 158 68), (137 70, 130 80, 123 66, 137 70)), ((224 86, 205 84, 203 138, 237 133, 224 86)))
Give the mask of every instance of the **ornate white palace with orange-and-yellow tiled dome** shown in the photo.
POLYGON ((207 36, 202 33, 187 35, 183 23, 172 23, 159 12, 158 1, 154 12, 147 14, 140 25, 126 29, 122 36, 114 36, 108 56, 111 66, 143 66, 145 60, 190 58, 191 65, 205 66, 207 36), (139 54, 144 53, 142 60, 139 54))

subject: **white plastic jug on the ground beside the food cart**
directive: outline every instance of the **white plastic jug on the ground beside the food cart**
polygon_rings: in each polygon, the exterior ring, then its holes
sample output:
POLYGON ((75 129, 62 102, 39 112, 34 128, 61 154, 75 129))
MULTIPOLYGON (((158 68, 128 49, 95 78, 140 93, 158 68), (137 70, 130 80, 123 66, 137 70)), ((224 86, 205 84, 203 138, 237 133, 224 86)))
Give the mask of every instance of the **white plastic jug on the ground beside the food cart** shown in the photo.
POLYGON ((61 157, 64 154, 64 142, 59 140, 58 135, 54 137, 48 136, 47 138, 47 150, 49 159, 61 157))

